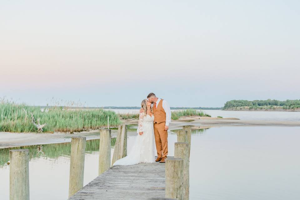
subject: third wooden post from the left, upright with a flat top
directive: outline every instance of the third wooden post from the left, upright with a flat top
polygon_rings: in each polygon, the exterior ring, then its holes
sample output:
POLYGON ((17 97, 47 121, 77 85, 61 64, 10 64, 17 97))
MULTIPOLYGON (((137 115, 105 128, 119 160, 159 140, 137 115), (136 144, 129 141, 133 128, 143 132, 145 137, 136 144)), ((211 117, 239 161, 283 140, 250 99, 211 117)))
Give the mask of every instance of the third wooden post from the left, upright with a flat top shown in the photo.
POLYGON ((100 129, 99 175, 110 168, 111 129, 100 129))

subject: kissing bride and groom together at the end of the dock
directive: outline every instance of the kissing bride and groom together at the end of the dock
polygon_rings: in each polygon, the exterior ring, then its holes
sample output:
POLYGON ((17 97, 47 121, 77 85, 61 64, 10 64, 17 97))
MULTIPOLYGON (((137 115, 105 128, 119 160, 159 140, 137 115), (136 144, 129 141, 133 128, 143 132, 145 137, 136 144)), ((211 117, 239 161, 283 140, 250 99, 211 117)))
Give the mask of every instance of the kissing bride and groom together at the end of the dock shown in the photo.
POLYGON ((168 102, 150 93, 141 103, 138 136, 128 155, 113 165, 165 163, 168 155, 168 129, 171 110, 168 102), (156 152, 155 152, 156 149, 156 152), (157 155, 157 158, 155 159, 157 155))

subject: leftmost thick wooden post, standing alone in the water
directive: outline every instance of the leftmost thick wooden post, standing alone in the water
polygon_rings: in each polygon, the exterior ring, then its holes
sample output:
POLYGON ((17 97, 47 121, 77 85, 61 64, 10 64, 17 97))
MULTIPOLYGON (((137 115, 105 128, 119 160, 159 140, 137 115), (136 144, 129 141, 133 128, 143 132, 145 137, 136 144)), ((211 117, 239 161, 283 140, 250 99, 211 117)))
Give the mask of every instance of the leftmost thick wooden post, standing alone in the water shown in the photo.
POLYGON ((29 200, 29 150, 10 150, 9 158, 9 199, 29 200))

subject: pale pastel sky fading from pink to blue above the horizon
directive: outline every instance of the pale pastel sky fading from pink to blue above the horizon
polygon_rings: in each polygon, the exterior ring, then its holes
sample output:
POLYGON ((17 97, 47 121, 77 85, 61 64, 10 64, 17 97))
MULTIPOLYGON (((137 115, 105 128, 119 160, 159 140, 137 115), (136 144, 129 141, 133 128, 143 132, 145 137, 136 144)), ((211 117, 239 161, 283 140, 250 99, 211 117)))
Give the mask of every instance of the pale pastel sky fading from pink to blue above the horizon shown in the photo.
POLYGON ((300 2, 0 1, 0 97, 173 107, 300 99, 300 2))

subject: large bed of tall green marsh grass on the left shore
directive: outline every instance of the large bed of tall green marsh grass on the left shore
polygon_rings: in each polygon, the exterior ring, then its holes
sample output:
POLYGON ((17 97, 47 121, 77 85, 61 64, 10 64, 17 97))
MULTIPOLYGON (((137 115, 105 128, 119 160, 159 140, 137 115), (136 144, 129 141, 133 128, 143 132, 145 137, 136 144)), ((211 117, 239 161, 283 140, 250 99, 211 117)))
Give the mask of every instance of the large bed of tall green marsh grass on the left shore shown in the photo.
POLYGON ((41 109, 26 104, 13 102, 0 102, 0 131, 4 132, 36 132, 37 128, 32 123, 31 114, 35 120, 40 118, 40 123, 46 123, 44 132, 79 132, 98 129, 109 125, 111 127, 121 124, 119 116, 103 109, 68 109, 51 107, 41 109))

